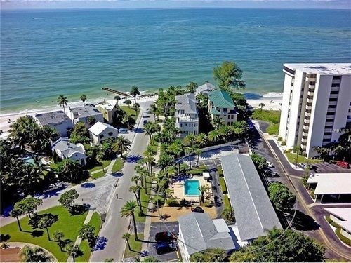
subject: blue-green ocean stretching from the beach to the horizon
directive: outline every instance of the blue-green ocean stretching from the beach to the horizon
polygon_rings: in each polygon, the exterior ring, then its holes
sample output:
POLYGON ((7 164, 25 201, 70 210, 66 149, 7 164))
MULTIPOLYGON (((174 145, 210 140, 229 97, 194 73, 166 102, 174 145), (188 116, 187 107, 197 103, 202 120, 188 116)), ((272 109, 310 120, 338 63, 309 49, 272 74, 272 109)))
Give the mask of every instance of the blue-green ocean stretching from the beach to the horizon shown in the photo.
POLYGON ((1 11, 1 114, 101 90, 213 80, 233 60, 247 93, 282 92, 284 62, 351 62, 350 10, 1 11))

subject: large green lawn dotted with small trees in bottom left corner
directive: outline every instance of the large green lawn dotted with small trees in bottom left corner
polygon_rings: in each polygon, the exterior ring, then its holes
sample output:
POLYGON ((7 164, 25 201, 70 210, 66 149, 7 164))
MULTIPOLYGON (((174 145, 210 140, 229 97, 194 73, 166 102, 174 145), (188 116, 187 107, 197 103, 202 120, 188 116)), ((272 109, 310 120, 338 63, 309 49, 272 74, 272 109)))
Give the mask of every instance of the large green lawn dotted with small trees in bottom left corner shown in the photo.
MULTIPOLYGON (((62 206, 55 206, 54 208, 43 210, 38 214, 40 215, 44 213, 53 213, 59 217, 58 222, 55 222, 52 227, 48 229, 51 237, 54 231, 62 231, 65 234, 64 239, 70 239, 73 242, 76 240, 79 228, 83 224, 87 214, 71 215, 67 209, 62 206)), ((22 232, 18 229, 17 221, 1 227, 0 232, 2 235, 8 234, 10 236, 8 242, 25 242, 39 245, 50 251, 59 262, 66 262, 68 257, 66 252, 60 251, 58 243, 48 241, 46 229, 36 229, 33 231, 28 225, 28 220, 28 217, 24 217, 20 220, 23 230, 22 232)))

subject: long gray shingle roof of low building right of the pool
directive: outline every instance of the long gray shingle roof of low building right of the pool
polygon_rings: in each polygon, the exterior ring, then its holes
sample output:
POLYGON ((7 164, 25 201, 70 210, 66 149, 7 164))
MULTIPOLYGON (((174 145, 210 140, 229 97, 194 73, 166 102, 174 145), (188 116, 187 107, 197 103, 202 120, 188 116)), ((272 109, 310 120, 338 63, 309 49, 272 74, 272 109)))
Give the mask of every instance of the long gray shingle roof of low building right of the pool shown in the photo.
POLYGON ((241 240, 265 236, 282 228, 250 156, 222 156, 222 168, 241 240))

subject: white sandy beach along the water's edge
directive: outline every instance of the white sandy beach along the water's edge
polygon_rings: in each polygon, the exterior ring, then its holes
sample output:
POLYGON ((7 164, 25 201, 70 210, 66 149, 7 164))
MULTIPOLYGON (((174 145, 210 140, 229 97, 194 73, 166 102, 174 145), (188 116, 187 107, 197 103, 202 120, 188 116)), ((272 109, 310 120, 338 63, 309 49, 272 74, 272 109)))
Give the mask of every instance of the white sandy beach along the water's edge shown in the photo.
MULTIPOLYGON (((148 93, 148 91, 142 91, 142 95, 137 97, 137 102, 146 102, 146 101, 154 101, 157 99, 157 95, 155 93, 148 93)), ((249 106, 253 107, 253 109, 258 109, 260 108, 259 104, 263 103, 265 106, 263 109, 269 109, 269 110, 280 110, 281 109, 281 103, 282 103, 282 93, 267 93, 264 95, 260 94, 255 94, 255 93, 244 93, 246 97, 246 101, 248 102, 249 106)), ((131 99, 131 98, 130 98, 131 99)), ((126 100, 126 97, 121 97, 121 100, 119 101, 120 105, 124 105, 124 100, 126 100)), ((103 102, 103 98, 95 98, 92 100, 88 100, 86 104, 98 104, 98 102, 103 102)), ((113 98, 112 100, 106 100, 107 102, 114 101, 113 98)), ((69 107, 78 107, 81 106, 82 102, 77 101, 77 102, 69 102, 68 106, 66 109, 69 109, 69 107)), ((13 112, 13 113, 6 113, 6 114, 0 114, 0 130, 3 131, 3 133, 0 135, 0 138, 6 138, 8 136, 8 130, 10 128, 11 123, 18 119, 20 116, 35 116, 36 114, 41 114, 41 113, 46 113, 46 112, 53 112, 57 110, 63 110, 62 107, 59 107, 58 105, 55 105, 53 107, 50 106, 42 106, 41 109, 32 109, 28 111, 22 111, 22 112, 13 112), (11 120, 11 122, 8 121, 8 119, 11 120)))

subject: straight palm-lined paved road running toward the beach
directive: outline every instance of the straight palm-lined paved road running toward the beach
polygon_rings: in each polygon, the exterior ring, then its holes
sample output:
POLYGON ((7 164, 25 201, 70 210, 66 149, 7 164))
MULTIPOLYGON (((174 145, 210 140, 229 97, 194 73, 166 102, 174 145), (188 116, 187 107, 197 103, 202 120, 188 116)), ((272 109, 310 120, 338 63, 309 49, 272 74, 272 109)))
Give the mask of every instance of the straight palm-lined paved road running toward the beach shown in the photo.
POLYGON ((121 217, 119 211, 121 207, 128 200, 132 200, 135 196, 129 192, 128 189, 131 186, 131 177, 135 174, 134 168, 136 161, 140 159, 143 152, 145 151, 147 144, 149 143, 149 137, 143 133, 143 116, 149 116, 147 120, 152 120, 153 116, 145 113, 147 107, 151 102, 140 103, 140 122, 135 133, 131 151, 129 152, 126 163, 122 170, 122 175, 119 177, 117 187, 114 189, 114 193, 108 205, 108 212, 105 223, 102 225, 99 236, 107 238, 107 244, 105 249, 93 252, 91 255, 90 262, 103 262, 107 258, 113 258, 115 262, 121 262, 123 259, 123 252, 125 248, 125 241, 121 236, 127 231, 129 219, 121 217), (118 193, 119 199, 116 198, 118 193))

